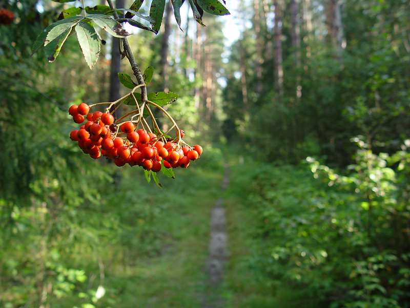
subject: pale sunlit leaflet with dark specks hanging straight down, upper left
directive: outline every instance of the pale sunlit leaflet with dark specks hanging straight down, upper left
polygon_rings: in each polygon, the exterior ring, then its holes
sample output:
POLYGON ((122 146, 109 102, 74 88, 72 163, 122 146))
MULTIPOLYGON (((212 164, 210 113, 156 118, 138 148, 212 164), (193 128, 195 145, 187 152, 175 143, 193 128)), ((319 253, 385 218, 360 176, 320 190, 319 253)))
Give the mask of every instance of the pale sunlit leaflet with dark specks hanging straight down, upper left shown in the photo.
POLYGON ((97 33, 89 23, 78 23, 75 31, 88 67, 92 69, 97 62, 100 50, 97 33))

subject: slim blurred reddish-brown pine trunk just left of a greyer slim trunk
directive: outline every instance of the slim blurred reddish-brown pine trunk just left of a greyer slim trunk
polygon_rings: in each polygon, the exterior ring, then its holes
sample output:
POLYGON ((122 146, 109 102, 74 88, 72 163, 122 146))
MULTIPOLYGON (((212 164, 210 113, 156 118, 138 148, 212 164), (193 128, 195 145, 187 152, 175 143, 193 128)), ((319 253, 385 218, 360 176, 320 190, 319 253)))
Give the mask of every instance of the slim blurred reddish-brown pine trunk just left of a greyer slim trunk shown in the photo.
POLYGON ((282 66, 282 28, 281 24, 279 1, 274 0, 275 6, 275 29, 273 35, 274 44, 274 74, 275 74, 275 90, 279 98, 283 97, 283 66, 282 66))

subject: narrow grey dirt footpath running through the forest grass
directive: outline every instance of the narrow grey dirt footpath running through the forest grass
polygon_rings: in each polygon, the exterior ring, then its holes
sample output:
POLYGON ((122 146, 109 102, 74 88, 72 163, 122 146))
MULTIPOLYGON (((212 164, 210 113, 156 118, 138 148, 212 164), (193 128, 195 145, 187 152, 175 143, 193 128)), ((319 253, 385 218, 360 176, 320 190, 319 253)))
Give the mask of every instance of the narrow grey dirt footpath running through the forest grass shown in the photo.
MULTIPOLYGON (((225 163, 225 174, 223 176, 221 190, 224 191, 229 185, 229 164, 225 163)), ((207 261, 206 272, 209 280, 207 281, 203 308, 221 308, 223 301, 221 298, 220 287, 223 282, 223 263, 228 257, 226 232, 227 220, 225 209, 222 207, 223 199, 216 200, 211 213, 211 240, 209 244, 209 258, 207 261)))

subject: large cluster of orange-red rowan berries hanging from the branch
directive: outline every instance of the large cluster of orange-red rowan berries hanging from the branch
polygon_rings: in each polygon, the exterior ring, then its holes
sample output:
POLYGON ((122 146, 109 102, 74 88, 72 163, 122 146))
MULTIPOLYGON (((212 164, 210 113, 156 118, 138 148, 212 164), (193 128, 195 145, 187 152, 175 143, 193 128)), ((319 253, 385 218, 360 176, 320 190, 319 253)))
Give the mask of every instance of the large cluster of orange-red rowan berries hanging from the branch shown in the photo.
POLYGON ((70 138, 78 142, 81 150, 93 159, 105 156, 113 159, 118 167, 138 165, 158 172, 162 165, 166 168, 187 168, 202 154, 200 145, 191 147, 182 141, 185 135, 183 130, 178 129, 180 136, 171 139, 164 133, 153 133, 148 126, 148 131, 145 128, 137 129, 141 122, 115 123, 108 110, 105 113, 89 111, 90 106, 86 103, 69 108, 75 123, 83 124, 88 120, 78 130, 71 131, 70 138))

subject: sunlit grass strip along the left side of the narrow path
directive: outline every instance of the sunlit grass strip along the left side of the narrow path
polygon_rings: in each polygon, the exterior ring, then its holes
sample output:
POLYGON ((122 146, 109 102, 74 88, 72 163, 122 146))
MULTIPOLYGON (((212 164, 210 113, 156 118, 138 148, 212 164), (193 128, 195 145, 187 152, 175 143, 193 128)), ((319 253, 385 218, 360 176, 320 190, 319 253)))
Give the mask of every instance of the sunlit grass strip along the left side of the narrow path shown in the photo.
MULTIPOLYGON (((144 177, 139 169, 123 172, 120 193, 125 196, 128 192, 128 203, 134 196, 137 208, 148 204, 151 210, 157 209, 147 223, 152 234, 159 231, 159 235, 153 235, 155 247, 145 247, 145 254, 134 249, 149 246, 149 241, 139 241, 131 249, 118 246, 122 256, 106 266, 105 283, 112 292, 103 298, 101 307, 201 307, 208 279, 205 267, 211 209, 223 176, 220 152, 204 153, 187 170, 175 170, 175 175, 175 180, 160 175, 166 188, 160 189, 154 183, 144 183, 145 178, 135 183, 133 179, 144 177)), ((135 213, 138 216, 139 211, 135 213)))

